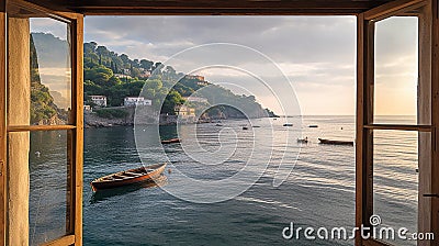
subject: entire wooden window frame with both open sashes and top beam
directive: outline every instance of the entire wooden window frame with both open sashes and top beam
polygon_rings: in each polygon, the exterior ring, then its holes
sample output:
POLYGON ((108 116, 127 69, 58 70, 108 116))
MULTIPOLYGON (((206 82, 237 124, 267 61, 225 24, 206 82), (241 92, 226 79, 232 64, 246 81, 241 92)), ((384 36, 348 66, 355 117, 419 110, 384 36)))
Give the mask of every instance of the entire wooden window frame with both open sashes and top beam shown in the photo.
MULTIPOLYGON (((7 1, 14 1, 19 2, 19 0, 7 0, 7 1)), ((372 201, 372 189, 371 189, 371 179, 370 175, 371 174, 371 159, 372 156, 368 156, 368 150, 369 146, 372 144, 372 138, 371 138, 371 132, 373 130, 399 130, 399 131, 417 131, 417 132, 430 132, 431 133, 431 144, 432 144, 432 150, 431 150, 431 164, 438 163, 439 161, 439 150, 436 147, 437 139, 439 139, 437 126, 439 125, 439 113, 434 113, 434 112, 439 112, 439 4, 438 0, 428 0, 431 1, 431 67, 434 68, 430 70, 431 72, 431 103, 430 103, 430 113, 431 113, 431 124, 429 125, 387 125, 387 124, 373 124, 372 119, 373 114, 373 100, 371 101, 370 99, 373 99, 373 93, 371 94, 370 91, 370 86, 371 85, 371 79, 373 78, 373 74, 371 74, 371 68, 373 68, 373 52, 371 53, 370 45, 371 42, 371 30, 367 27, 367 24, 369 23, 370 20, 376 19, 376 18, 386 18, 392 14, 395 14, 398 11, 405 10, 407 7, 410 7, 413 4, 418 4, 420 2, 424 2, 424 0, 397 0, 394 2, 390 2, 386 4, 383 4, 381 7, 378 7, 375 9, 372 9, 370 11, 357 14, 354 12, 346 12, 346 11, 325 11, 325 10, 314 10, 313 11, 306 11, 306 8, 302 9, 294 9, 294 8, 273 8, 273 10, 268 9, 268 10, 257 10, 257 9, 249 9, 245 11, 234 11, 234 10, 227 10, 222 12, 222 5, 216 4, 214 7, 210 7, 206 10, 198 10, 195 7, 196 4, 200 3, 194 3, 194 8, 182 8, 176 10, 171 8, 144 8, 144 9, 136 9, 136 8, 125 8, 125 9, 119 9, 119 8, 108 8, 101 7, 102 10, 93 10, 93 9, 83 9, 81 10, 79 8, 79 11, 87 12, 89 14, 101 14, 101 15, 117 15, 117 14, 160 14, 160 15, 166 15, 166 14, 215 14, 215 13, 229 13, 229 14, 284 14, 284 15, 300 15, 300 14, 318 14, 318 15, 324 15, 324 14, 352 14, 357 15, 358 18, 358 35, 357 35, 357 146, 356 146, 356 169, 357 169, 357 180, 356 180, 356 201, 357 201, 357 206, 356 206, 356 224, 361 225, 364 223, 367 225, 369 223, 369 217, 367 216, 368 214, 372 214, 373 210, 372 206, 370 206, 370 202, 372 201), (275 10, 274 10, 275 9, 275 10), (302 11, 302 12, 301 12, 302 11), (372 110, 372 111, 371 111, 372 110)), ((31 5, 32 8, 36 9, 43 9, 45 12, 50 13, 50 10, 41 8, 38 5, 33 5, 27 2, 20 1, 23 4, 31 5)), ((251 4, 251 3, 248 3, 251 4)), ((244 7, 243 7, 244 8, 244 7)), ((65 18, 68 18, 72 20, 72 23, 75 24, 75 27, 72 30, 76 30, 75 35, 72 35, 72 46, 75 47, 72 49, 71 56, 74 58, 72 60, 72 82, 76 85, 76 101, 72 102, 72 109, 75 109, 75 114, 76 115, 81 115, 82 114, 82 31, 83 31, 83 24, 82 24, 82 15, 77 14, 77 13, 58 13, 58 12, 52 12, 56 15, 63 15, 65 18), (76 49, 76 51, 75 51, 76 49), (75 76, 74 76, 75 75, 75 76)), ((49 130, 71 130, 75 133, 75 139, 76 139, 76 157, 78 159, 75 159, 75 165, 72 165, 72 168, 76 170, 76 178, 75 178, 75 191, 76 191, 76 208, 78 210, 75 211, 75 235, 67 235, 64 236, 57 241, 54 241, 49 243, 48 245, 81 245, 82 241, 82 232, 81 232, 81 222, 82 222, 82 215, 81 215, 81 193, 82 193, 82 131, 83 131, 83 122, 82 122, 82 116, 77 116, 76 122, 72 125, 65 125, 65 126, 10 126, 7 128, 5 125, 5 103, 7 103, 7 98, 5 98, 5 86, 7 86, 7 49, 5 49, 5 41, 7 41, 7 25, 5 25, 5 20, 7 20, 7 14, 5 14, 5 1, 1 1, 0 3, 0 36, 3 38, 0 38, 0 63, 2 64, 0 66, 0 77, 1 77, 1 82, 0 82, 0 190, 3 192, 0 192, 0 210, 3 211, 3 213, 0 215, 1 224, 0 224, 0 244, 5 243, 5 201, 7 199, 4 198, 4 185, 5 185, 5 159, 7 159, 7 133, 8 132, 21 132, 21 131, 49 131, 49 130)), ((372 49, 373 51, 373 49, 372 49)), ((372 80, 373 82, 373 80, 372 80)), ((370 153, 369 153, 370 154, 370 153)), ((439 194, 439 179, 435 179, 434 177, 439 177, 439 166, 438 165, 431 165, 431 172, 430 175, 430 182, 431 182, 431 193, 432 194, 439 194)), ((436 238, 435 242, 431 242, 431 244, 439 244, 439 213, 438 213, 438 208, 439 208, 439 199, 438 198, 431 198, 431 219, 430 219, 430 226, 431 226, 431 232, 436 233, 436 238)), ((359 235, 356 237, 356 245, 383 245, 381 242, 374 242, 374 241, 362 241, 359 235)))

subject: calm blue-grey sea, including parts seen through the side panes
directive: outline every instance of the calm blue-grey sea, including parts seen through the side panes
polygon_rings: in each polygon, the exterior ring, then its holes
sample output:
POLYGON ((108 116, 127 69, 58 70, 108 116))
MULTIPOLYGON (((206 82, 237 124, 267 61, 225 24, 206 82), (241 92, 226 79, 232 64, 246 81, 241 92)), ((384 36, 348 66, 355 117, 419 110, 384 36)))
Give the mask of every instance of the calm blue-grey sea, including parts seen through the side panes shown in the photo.
MULTIPOLYGON (((157 127, 85 130, 83 245, 353 245, 354 147, 323 145, 318 138, 353 141, 354 116, 157 127), (294 125, 283 126, 290 122, 294 125), (182 143, 162 146, 157 134, 182 143), (308 143, 297 142, 305 137, 308 143), (157 183, 91 190, 95 178, 162 161, 169 166, 157 183), (239 186, 233 179, 244 171, 251 183, 239 186), (305 238, 303 231, 290 238, 299 227, 314 228, 316 238, 305 238), (345 227, 348 238, 331 238, 334 227, 345 227), (323 237, 327 230, 328 238, 319 238, 318 230, 323 237)), ((66 233, 67 139, 67 131, 31 133, 31 245, 66 233)), ((373 159, 380 226, 416 232, 418 134, 374 132, 373 159)))

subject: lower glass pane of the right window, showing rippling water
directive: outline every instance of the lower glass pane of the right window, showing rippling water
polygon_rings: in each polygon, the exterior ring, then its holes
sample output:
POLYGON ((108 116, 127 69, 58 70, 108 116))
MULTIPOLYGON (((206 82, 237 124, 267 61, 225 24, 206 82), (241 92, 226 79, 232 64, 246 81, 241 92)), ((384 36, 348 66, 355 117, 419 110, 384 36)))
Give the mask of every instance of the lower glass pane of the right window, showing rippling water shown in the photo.
POLYGON ((397 232, 406 227, 416 233, 418 227, 418 133, 375 131, 373 138, 373 212, 381 219, 378 232, 390 226, 394 239, 383 231, 383 241, 416 245, 416 241, 399 238, 397 232))

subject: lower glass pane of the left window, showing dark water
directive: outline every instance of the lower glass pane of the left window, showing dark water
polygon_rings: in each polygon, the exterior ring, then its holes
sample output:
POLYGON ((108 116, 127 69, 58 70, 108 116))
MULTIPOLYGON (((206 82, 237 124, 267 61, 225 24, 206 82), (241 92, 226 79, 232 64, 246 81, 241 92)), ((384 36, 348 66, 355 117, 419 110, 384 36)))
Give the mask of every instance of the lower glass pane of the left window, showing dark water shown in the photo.
POLYGON ((67 132, 32 132, 30 168, 30 244, 66 234, 67 132))

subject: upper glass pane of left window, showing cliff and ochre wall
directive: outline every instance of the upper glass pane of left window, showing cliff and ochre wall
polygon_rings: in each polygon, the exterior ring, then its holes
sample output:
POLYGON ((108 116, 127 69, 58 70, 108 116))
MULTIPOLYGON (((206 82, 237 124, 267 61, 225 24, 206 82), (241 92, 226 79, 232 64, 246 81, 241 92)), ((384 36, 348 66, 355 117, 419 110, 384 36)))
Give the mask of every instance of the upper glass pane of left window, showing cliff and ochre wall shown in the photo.
POLYGON ((9 125, 69 124, 69 24, 19 7, 8 13, 8 113, 21 114, 9 125))

